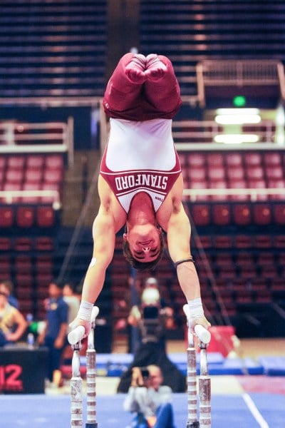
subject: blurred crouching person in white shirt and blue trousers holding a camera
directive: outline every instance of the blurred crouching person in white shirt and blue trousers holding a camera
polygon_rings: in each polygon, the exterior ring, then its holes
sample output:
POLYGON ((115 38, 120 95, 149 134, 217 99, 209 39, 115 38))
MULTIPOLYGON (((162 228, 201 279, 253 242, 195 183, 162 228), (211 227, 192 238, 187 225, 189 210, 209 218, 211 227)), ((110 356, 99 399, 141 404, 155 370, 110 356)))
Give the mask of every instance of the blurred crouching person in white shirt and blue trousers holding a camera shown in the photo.
POLYGON ((132 381, 124 409, 135 413, 128 428, 175 428, 171 404, 172 390, 162 386, 160 367, 133 367, 132 381))

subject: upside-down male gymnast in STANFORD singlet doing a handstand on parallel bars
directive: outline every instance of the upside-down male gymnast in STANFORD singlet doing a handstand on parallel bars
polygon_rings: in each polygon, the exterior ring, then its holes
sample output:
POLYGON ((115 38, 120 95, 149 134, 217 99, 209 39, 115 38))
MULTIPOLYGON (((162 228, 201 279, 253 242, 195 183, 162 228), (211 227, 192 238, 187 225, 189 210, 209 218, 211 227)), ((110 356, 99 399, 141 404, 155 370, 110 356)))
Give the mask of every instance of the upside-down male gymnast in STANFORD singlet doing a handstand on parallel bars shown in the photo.
POLYGON ((115 234, 124 226, 123 253, 137 270, 157 265, 163 253, 162 230, 167 233, 170 257, 190 308, 190 326, 209 328, 190 253, 190 221, 182 205, 182 173, 172 139, 172 118, 181 103, 172 63, 165 56, 125 54, 110 77, 103 97, 110 136, 98 178, 93 257, 71 324, 83 325, 86 335, 113 258, 115 234))

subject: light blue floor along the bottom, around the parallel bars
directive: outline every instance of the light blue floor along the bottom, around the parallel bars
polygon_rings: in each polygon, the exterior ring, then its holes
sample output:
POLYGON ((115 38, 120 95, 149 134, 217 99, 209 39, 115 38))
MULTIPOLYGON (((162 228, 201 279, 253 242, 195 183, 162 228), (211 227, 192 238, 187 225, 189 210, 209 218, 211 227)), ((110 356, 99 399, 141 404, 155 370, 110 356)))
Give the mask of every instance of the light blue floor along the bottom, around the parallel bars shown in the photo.
MULTIPOLYGON (((123 394, 98 397, 98 428, 125 428, 130 414, 122 409, 123 394)), ((285 396, 281 394, 250 394, 254 407, 269 428, 285 427, 285 396)), ((174 394, 175 423, 186 428, 187 397, 174 394)), ((0 427, 68 428, 70 398, 67 395, 1 395, 0 427)), ((85 426, 85 424, 83 425, 85 426)), ((258 428, 261 425, 249 411, 241 395, 212 397, 212 428, 258 428)))

